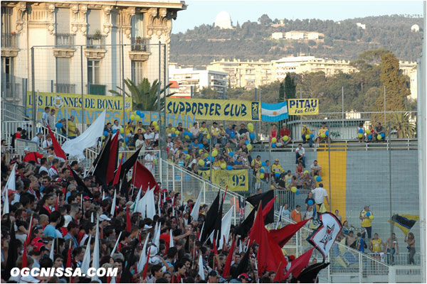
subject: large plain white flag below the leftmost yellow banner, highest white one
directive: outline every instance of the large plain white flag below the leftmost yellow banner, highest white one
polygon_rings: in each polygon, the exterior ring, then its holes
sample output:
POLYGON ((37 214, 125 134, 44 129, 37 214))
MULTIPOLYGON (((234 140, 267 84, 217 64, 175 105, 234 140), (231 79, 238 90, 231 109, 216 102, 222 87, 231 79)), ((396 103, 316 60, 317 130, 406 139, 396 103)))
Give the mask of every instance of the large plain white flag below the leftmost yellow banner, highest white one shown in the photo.
POLYGON ((83 151, 86 148, 95 146, 97 139, 103 135, 106 111, 106 109, 102 111, 100 116, 98 116, 97 119, 93 121, 93 124, 89 126, 89 128, 86 129, 82 135, 76 137, 75 139, 65 141, 62 146, 63 151, 70 154, 70 157, 76 156, 83 160, 85 158, 83 151))

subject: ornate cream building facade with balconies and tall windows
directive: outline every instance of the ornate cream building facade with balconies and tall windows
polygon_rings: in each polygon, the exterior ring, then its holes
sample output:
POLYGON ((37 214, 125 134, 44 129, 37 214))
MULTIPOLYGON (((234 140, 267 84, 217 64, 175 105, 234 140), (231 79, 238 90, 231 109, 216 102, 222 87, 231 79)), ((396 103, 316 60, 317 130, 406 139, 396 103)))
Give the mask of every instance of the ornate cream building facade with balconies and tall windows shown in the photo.
POLYGON ((1 96, 24 104, 16 94, 31 87, 108 95, 126 78, 158 80, 183 9, 184 1, 1 1, 1 96))

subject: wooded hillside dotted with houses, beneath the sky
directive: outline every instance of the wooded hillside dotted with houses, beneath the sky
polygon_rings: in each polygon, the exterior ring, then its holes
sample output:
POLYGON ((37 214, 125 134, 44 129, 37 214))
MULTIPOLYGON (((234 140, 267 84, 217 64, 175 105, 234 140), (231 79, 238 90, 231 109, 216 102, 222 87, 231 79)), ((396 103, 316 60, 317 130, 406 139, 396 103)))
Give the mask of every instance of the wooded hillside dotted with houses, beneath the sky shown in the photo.
POLYGON ((232 30, 201 25, 186 33, 171 35, 171 62, 181 65, 207 65, 221 58, 242 60, 279 59, 305 53, 320 58, 357 59, 364 50, 386 48, 400 60, 415 61, 421 54, 423 19, 421 16, 372 16, 340 22, 317 19, 274 21, 267 15, 258 22, 237 23, 232 30), (366 24, 366 29, 356 26, 366 24), (411 32, 413 24, 420 32, 411 32), (324 40, 271 40, 274 32, 317 31, 324 40))

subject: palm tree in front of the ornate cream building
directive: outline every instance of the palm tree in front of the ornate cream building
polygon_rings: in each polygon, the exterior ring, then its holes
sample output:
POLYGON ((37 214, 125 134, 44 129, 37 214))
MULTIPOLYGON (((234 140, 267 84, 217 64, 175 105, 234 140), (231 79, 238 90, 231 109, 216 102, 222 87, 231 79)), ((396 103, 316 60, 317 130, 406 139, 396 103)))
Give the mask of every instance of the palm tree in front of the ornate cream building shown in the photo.
MULTIPOLYGON (((157 92, 159 88, 158 80, 154 80, 152 84, 149 83, 147 78, 142 79, 142 82, 139 84, 135 84, 130 79, 125 79, 125 84, 127 87, 127 91, 125 91, 125 96, 132 98, 132 110, 140 110, 140 111, 159 111, 157 107, 157 92)), ((166 90, 172 84, 167 84, 166 87, 160 89, 160 97, 162 98, 162 94, 165 94, 166 90)), ((120 89, 120 92, 117 92, 113 89, 110 89, 110 93, 115 94, 116 96, 122 96, 123 89, 121 87, 117 87, 120 89)), ((172 96, 172 94, 167 94, 166 97, 172 96)), ((164 108, 164 99, 160 99, 160 110, 164 108)))

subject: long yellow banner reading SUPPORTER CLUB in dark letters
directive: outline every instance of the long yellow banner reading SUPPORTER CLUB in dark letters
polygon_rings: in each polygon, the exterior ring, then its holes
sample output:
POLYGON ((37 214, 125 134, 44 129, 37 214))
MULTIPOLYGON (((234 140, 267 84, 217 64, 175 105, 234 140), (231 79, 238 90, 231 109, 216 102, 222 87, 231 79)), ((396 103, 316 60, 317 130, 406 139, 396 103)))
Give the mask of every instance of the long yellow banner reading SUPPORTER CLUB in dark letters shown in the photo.
POLYGON ((196 119, 260 121, 260 102, 232 99, 166 99, 167 114, 196 116, 196 119))

